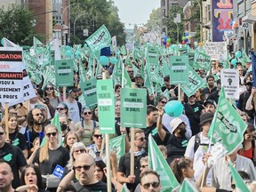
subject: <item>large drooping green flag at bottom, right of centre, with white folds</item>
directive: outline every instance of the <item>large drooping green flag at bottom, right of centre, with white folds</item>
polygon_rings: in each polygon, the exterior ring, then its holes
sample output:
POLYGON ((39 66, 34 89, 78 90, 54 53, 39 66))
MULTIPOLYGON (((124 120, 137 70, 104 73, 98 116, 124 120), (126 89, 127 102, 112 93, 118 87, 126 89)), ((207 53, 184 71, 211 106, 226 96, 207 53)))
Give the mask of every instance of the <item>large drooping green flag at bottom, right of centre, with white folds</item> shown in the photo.
POLYGON ((160 175, 162 192, 170 192, 180 186, 151 134, 148 137, 148 165, 160 175))

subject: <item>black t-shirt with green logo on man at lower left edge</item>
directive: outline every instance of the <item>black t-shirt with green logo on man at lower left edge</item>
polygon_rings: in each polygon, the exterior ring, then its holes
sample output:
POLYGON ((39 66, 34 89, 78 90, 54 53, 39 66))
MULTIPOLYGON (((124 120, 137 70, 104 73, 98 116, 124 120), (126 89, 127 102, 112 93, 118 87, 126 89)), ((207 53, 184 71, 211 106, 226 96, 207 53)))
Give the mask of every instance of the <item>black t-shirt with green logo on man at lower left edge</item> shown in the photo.
POLYGON ((9 143, 4 143, 4 147, 0 148, 0 158, 4 159, 12 167, 14 179, 12 180, 12 187, 18 188, 20 186, 19 169, 26 166, 27 161, 20 148, 9 143))

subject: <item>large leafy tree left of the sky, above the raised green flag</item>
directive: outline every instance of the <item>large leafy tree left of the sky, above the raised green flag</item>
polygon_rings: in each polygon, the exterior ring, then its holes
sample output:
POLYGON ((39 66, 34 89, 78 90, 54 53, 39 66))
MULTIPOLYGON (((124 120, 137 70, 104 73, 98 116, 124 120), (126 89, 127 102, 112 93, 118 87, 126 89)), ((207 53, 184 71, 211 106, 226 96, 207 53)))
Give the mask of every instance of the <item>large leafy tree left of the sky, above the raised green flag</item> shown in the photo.
POLYGON ((105 25, 111 36, 116 36, 117 44, 125 44, 124 23, 118 17, 118 9, 113 1, 107 0, 71 0, 71 42, 84 44, 86 36, 83 36, 83 29, 89 30, 89 36, 105 25), (76 20, 79 15, 84 14, 76 20), (76 20, 76 37, 74 37, 74 22, 76 20), (93 22, 93 20, 95 22, 93 22), (95 26, 93 26, 95 23, 95 26))

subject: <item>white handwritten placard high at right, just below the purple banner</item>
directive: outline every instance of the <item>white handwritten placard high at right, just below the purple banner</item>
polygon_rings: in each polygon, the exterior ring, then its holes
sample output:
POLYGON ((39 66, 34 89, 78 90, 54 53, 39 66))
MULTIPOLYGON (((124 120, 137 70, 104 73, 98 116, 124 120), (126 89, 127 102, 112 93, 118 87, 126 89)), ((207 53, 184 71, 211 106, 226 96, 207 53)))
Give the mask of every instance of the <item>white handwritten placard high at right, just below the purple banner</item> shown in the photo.
POLYGON ((212 60, 227 60, 227 43, 226 42, 208 42, 204 43, 204 52, 212 60))

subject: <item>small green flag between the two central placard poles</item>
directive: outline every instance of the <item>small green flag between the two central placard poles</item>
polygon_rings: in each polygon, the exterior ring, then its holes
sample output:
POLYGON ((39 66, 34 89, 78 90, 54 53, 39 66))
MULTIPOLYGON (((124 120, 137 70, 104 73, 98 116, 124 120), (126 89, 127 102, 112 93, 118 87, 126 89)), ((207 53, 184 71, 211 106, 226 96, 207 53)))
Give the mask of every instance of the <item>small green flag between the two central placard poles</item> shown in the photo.
POLYGON ((109 145, 112 150, 116 152, 117 164, 119 164, 119 159, 125 154, 125 135, 122 134, 116 138, 109 140, 109 145))

